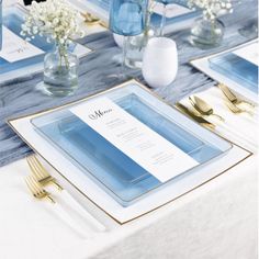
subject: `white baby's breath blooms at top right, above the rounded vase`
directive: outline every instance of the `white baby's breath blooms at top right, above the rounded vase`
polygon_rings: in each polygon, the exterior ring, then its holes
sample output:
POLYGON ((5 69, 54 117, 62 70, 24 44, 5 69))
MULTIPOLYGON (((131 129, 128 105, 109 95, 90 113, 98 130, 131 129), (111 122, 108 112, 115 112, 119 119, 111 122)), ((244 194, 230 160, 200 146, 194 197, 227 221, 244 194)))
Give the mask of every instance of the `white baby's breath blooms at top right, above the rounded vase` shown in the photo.
POLYGON ((232 0, 188 0, 190 8, 203 10, 203 18, 214 21, 222 12, 233 12, 232 0))

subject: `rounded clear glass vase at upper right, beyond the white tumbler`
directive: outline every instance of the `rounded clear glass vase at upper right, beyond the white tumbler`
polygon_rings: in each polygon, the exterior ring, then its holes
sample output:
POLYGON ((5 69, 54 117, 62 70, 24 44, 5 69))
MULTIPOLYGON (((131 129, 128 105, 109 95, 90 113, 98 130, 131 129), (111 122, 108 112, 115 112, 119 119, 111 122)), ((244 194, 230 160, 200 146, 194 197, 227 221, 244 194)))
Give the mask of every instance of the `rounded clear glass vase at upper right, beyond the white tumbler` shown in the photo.
POLYGON ((224 36, 224 24, 215 20, 200 18, 191 29, 190 43, 199 48, 212 48, 221 45, 224 36))

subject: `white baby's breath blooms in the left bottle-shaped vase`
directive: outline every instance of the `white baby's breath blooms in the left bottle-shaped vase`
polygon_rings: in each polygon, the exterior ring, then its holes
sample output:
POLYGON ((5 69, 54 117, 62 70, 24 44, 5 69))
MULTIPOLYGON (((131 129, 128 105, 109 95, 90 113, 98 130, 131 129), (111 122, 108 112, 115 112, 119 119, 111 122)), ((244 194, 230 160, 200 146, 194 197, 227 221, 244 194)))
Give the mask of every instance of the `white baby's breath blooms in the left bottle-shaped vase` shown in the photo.
POLYGON ((58 47, 66 47, 75 36, 83 36, 80 30, 82 18, 67 0, 33 1, 30 12, 22 24, 22 36, 26 41, 36 34, 54 41, 58 47))

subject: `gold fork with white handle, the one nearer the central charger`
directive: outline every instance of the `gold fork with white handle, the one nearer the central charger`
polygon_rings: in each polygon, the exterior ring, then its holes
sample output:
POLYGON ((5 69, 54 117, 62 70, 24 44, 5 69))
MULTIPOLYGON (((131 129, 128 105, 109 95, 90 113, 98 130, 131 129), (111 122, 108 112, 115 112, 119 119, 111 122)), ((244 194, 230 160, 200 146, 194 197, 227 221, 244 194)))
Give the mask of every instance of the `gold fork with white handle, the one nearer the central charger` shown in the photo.
POLYGON ((43 167, 40 160, 33 155, 26 157, 27 164, 31 168, 31 171, 38 183, 42 185, 55 184, 56 188, 61 192, 66 202, 70 204, 82 217, 91 222, 99 230, 104 232, 106 227, 102 225, 98 219, 95 219, 88 211, 85 210, 60 184, 57 183, 57 180, 53 178, 47 170, 43 167))

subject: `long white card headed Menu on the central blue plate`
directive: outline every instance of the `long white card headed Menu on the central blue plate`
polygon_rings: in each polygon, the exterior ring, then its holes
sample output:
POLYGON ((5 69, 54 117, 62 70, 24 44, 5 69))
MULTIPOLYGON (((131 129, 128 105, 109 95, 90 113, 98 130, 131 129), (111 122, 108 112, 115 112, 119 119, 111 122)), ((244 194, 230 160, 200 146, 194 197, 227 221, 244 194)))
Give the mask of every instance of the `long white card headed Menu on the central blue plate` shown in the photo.
POLYGON ((161 182, 199 165, 108 98, 70 111, 161 182))

